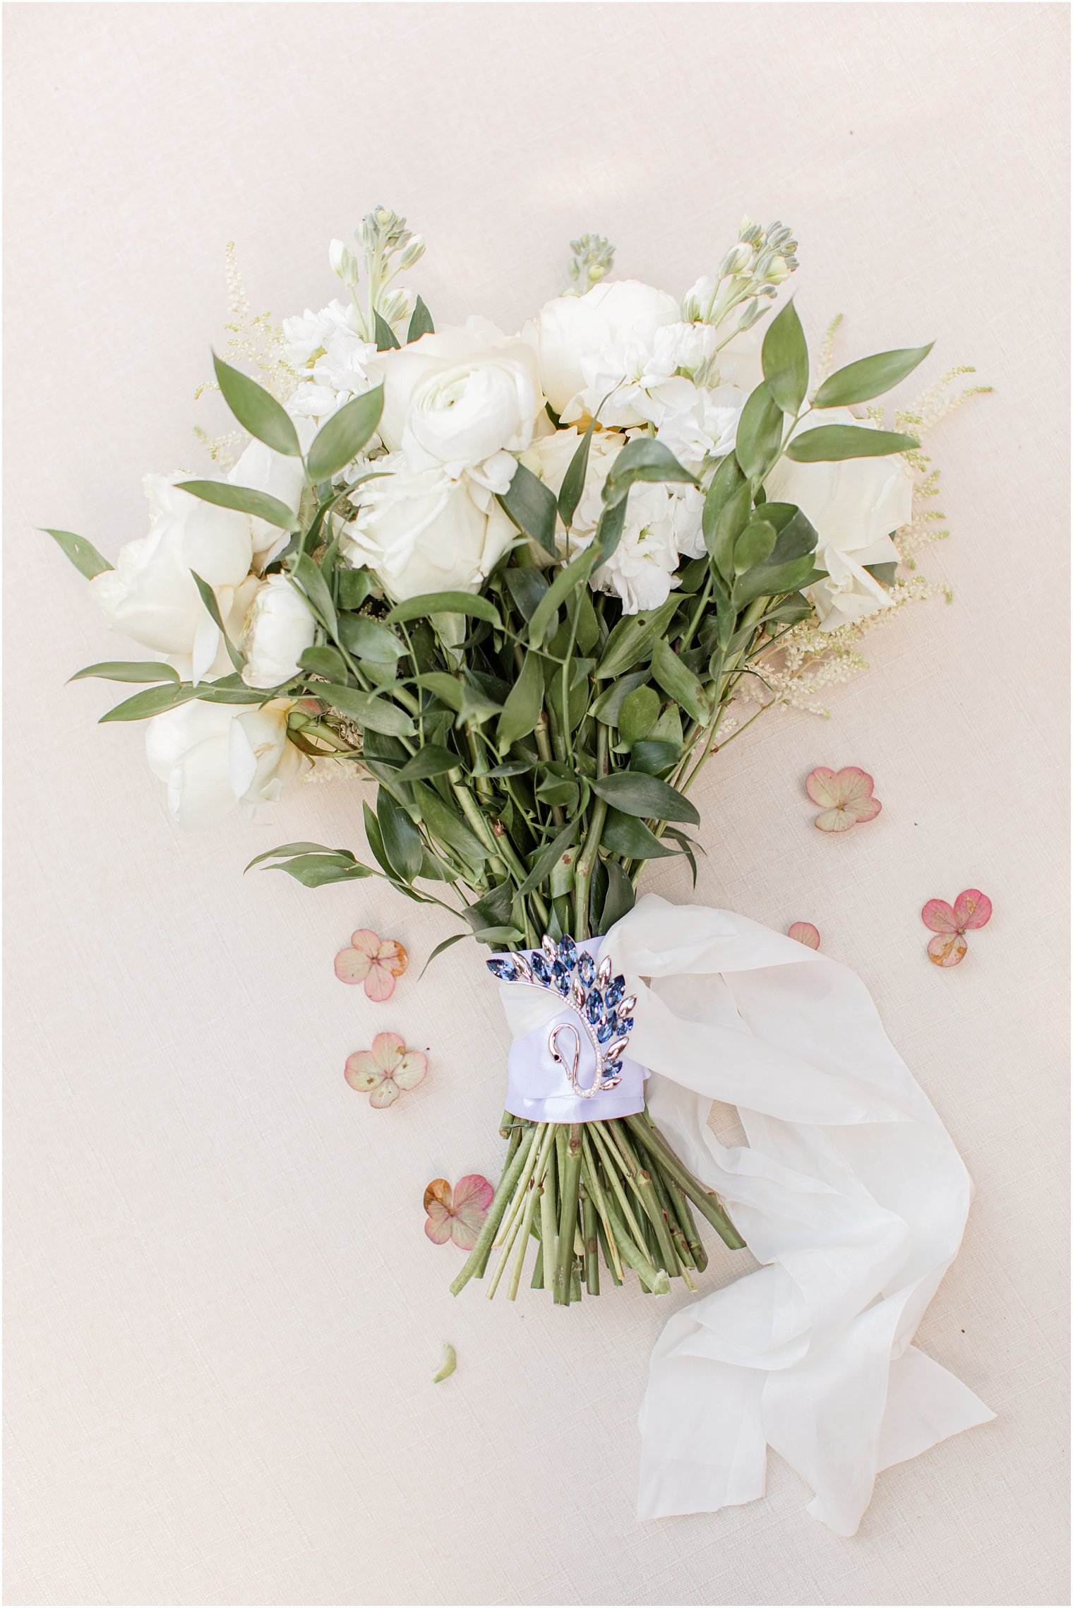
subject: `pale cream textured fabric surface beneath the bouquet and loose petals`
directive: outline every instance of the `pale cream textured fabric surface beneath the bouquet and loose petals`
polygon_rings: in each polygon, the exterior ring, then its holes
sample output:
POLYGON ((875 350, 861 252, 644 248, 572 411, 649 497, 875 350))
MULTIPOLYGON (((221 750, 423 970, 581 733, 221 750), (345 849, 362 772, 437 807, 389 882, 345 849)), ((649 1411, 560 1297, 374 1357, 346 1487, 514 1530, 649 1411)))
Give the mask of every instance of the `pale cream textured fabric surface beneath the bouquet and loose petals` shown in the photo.
MULTIPOLYGON (((6 13, 6 1592, 13 1603, 1060 1603, 1065 1581, 1067 23, 1057 5, 14 5, 6 13), (816 921, 977 1180, 919 1341, 998 1421, 882 1475, 859 1536, 768 1497, 639 1528, 641 1401, 681 1299, 447 1294, 437 1174, 496 1174, 506 1031, 451 923, 251 875, 361 847, 357 785, 254 828, 170 825, 122 654, 34 526, 106 553, 146 470, 204 465, 194 404, 235 240, 255 307, 318 307, 377 201, 429 240, 440 322, 517 322, 585 228, 684 288, 742 209, 802 241, 843 360, 938 336, 996 394, 932 437, 956 589, 872 638, 834 719, 712 764, 697 897, 816 921), (830 839, 803 777, 883 814, 830 839), (919 910, 994 920, 936 971, 919 910), (389 1007, 333 976, 410 947, 389 1007), (342 1081, 382 1028, 432 1073, 342 1081), (432 1388, 440 1344, 458 1373, 432 1388)), ((912 392, 914 381, 908 383, 912 392)), ((135 650, 137 656, 137 650, 135 650)), ((681 865, 647 886, 687 899, 681 865)), ((713 1256, 710 1280, 742 1262, 713 1256)))

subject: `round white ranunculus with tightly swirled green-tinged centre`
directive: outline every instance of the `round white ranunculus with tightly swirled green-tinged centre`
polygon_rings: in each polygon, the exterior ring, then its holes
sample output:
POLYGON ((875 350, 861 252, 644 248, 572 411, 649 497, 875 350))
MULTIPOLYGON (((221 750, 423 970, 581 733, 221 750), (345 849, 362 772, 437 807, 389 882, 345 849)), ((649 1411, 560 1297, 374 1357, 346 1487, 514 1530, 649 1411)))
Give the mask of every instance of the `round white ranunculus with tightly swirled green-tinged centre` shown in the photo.
MULTIPOLYGON (((471 318, 382 352, 377 371, 381 437, 405 453, 411 470, 467 476, 488 494, 509 487, 512 453, 528 447, 541 407, 536 365, 524 343, 471 318)), ((490 498, 480 500, 487 507, 490 498)))

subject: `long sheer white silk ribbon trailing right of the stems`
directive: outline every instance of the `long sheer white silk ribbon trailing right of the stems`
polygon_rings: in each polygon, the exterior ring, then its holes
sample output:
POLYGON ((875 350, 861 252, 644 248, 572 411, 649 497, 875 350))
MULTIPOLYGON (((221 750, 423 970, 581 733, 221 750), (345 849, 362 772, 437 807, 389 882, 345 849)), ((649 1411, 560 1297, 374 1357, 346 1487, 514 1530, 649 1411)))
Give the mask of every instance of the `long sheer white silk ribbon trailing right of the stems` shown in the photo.
MULTIPOLYGON (((808 1512, 853 1536, 879 1470, 994 1417, 911 1344, 961 1245, 964 1163, 848 966, 654 894, 599 954, 638 995, 630 1050, 654 1121, 763 1264, 655 1344, 638 1516, 752 1502, 773 1447, 811 1486, 808 1512), (749 1145, 718 1143, 715 1100, 749 1145)), ((524 1045, 535 1019, 509 995, 524 1045)), ((602 1100, 588 1114, 618 1114, 602 1100)))

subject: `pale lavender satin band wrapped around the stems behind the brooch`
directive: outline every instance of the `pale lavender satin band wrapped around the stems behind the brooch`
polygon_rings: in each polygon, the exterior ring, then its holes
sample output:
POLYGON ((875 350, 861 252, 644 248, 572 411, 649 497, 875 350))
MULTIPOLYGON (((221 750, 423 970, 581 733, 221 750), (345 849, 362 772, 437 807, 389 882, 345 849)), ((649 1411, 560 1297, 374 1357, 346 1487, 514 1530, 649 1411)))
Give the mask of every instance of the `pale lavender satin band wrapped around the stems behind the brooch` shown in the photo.
MULTIPOLYGON (((578 950, 601 960, 602 937, 578 939, 578 950)), ((532 958, 535 950, 524 952, 532 958)), ((508 958, 508 957, 496 957, 508 958)), ((577 1028, 577 1011, 545 989, 500 982, 500 1000, 514 1042, 506 1063, 506 1110, 530 1122, 602 1122, 612 1116, 631 1116, 644 1110, 646 1068, 630 1056, 622 1058, 622 1082, 601 1089, 591 1100, 570 1087, 567 1069, 553 1058, 548 1037, 556 1026, 577 1028)), ((596 1055, 586 1037, 578 1034, 578 1082, 590 1087, 596 1076, 596 1055)))

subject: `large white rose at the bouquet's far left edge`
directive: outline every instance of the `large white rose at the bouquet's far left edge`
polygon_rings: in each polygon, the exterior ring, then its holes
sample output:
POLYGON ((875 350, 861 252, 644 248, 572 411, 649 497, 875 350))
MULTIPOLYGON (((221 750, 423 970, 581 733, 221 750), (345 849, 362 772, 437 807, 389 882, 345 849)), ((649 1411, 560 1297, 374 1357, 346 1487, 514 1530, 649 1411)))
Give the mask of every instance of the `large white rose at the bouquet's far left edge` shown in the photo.
POLYGON ((207 667, 220 634, 191 571, 209 582, 226 616, 235 589, 249 574, 249 519, 180 490, 178 478, 146 474, 149 534, 127 542, 116 569, 95 576, 90 592, 112 630, 157 653, 193 654, 196 664, 207 667))

